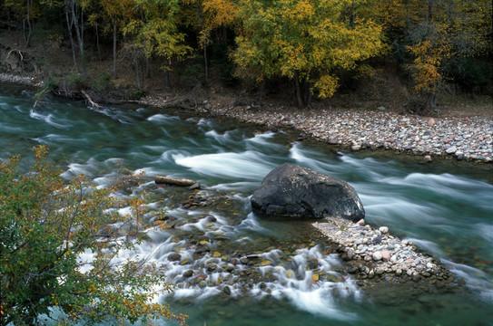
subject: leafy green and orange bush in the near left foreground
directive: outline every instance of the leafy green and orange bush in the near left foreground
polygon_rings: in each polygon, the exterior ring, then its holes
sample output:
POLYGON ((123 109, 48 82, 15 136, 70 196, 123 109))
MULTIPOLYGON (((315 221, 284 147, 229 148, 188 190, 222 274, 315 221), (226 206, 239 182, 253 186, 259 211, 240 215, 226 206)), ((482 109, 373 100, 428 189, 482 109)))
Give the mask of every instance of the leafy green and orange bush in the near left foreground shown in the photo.
POLYGON ((149 257, 120 257, 143 240, 144 206, 141 197, 122 202, 111 194, 134 180, 123 176, 96 188, 75 176, 65 184, 45 155, 36 148, 26 173, 18 157, 0 161, 0 324, 38 325, 42 314, 65 324, 182 322, 184 316, 152 302, 171 290, 162 268, 149 257), (123 205, 133 214, 116 213, 123 205))

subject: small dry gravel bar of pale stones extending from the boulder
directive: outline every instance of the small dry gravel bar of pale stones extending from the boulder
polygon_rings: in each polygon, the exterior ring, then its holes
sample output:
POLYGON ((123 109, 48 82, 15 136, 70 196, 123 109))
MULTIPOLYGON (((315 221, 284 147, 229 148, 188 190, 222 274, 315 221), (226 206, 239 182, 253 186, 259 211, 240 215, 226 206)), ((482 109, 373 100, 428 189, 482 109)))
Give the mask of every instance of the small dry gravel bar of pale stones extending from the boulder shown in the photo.
POLYGON ((420 253, 412 242, 390 235, 387 226, 373 228, 363 220, 353 224, 340 218, 328 218, 313 226, 338 246, 340 256, 348 262, 348 273, 361 284, 422 281, 445 288, 455 280, 445 266, 420 253))

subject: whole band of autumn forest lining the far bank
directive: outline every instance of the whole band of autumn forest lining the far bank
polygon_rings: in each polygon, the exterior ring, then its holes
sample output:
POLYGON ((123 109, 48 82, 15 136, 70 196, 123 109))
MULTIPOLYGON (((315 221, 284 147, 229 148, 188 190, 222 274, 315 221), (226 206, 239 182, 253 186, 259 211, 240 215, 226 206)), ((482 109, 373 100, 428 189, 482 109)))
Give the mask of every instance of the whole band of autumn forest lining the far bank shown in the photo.
POLYGON ((5 0, 0 28, 25 49, 70 48, 83 76, 90 62, 113 61, 100 84, 125 62, 139 90, 159 62, 166 87, 179 66, 204 85, 215 68, 226 87, 257 87, 260 102, 272 81, 288 82, 307 107, 389 61, 423 108, 440 92, 492 90, 488 0, 5 0))

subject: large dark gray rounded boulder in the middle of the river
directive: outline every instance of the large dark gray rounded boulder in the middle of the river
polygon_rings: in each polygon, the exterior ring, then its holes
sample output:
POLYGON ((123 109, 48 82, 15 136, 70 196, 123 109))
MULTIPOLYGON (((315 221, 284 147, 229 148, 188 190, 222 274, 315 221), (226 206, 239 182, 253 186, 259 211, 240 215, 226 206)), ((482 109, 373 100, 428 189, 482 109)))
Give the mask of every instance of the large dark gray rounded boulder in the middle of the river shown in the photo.
POLYGON ((365 217, 360 197, 346 181, 288 163, 264 177, 251 196, 251 207, 265 216, 339 216, 351 221, 365 217))

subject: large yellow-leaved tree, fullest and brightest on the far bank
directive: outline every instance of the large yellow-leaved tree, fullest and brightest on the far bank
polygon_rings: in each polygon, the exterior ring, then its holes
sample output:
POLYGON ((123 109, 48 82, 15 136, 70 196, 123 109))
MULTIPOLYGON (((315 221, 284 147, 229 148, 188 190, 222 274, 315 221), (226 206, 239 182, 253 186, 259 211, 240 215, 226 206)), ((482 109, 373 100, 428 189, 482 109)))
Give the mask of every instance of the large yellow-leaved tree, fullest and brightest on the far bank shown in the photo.
POLYGON ((337 69, 354 69, 382 49, 380 25, 360 14, 366 3, 241 0, 233 60, 240 74, 258 82, 291 79, 300 107, 310 105, 312 93, 330 97, 339 84, 337 69))

